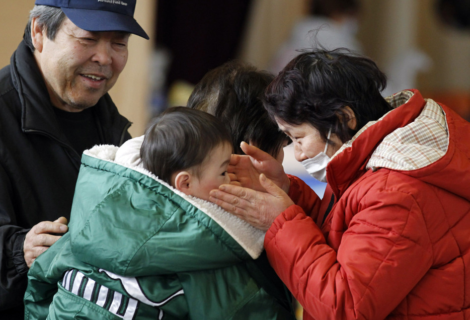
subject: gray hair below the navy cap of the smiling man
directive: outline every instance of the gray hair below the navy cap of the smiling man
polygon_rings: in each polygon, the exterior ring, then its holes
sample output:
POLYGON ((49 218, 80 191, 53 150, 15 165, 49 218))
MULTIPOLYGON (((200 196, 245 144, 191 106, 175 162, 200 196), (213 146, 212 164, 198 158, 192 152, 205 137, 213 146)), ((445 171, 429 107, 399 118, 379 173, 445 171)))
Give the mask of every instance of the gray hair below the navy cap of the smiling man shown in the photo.
POLYGON ((34 18, 37 18, 37 23, 40 28, 46 31, 46 36, 50 40, 55 39, 55 35, 59 30, 62 22, 65 19, 65 14, 62 9, 50 6, 34 6, 33 10, 30 11, 29 21, 25 28, 25 34, 23 39, 26 45, 34 51, 33 40, 31 39, 31 22, 34 18))

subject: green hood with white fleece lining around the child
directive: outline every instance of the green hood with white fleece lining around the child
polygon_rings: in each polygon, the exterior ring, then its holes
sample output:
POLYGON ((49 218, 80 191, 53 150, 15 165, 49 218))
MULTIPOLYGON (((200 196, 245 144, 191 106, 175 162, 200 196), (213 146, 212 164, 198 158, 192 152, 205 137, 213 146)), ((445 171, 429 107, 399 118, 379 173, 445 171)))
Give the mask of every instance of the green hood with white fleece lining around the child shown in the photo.
POLYGON ((143 169, 142 140, 84 152, 70 220, 73 253, 91 265, 132 276, 258 258, 265 233, 143 169), (102 235, 114 240, 113 248, 100 248, 102 235))

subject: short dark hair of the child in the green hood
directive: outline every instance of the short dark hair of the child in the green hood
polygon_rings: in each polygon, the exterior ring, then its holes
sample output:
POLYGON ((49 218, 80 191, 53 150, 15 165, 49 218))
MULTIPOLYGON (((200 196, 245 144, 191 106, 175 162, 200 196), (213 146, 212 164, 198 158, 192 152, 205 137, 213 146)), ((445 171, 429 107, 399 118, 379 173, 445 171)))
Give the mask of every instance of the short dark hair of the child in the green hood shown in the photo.
MULTIPOLYGON (((143 167, 171 184, 172 174, 199 166, 220 143, 231 144, 227 128, 214 116, 187 107, 172 107, 156 116, 140 147, 143 167)), ((199 177, 200 168, 195 168, 199 177)))

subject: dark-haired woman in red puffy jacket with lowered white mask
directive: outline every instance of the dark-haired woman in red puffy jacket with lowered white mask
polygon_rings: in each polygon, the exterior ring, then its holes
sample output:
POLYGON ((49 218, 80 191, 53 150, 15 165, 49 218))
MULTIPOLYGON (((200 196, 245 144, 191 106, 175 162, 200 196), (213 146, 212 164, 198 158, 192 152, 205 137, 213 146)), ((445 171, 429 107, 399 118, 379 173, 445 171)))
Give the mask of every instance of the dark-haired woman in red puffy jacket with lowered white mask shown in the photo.
POLYGON ((304 319, 470 316, 470 123, 415 89, 382 98, 385 85, 373 61, 348 50, 299 54, 265 107, 297 161, 326 178, 323 199, 245 143, 229 172, 254 187, 211 191, 267 230, 269 261, 304 319))

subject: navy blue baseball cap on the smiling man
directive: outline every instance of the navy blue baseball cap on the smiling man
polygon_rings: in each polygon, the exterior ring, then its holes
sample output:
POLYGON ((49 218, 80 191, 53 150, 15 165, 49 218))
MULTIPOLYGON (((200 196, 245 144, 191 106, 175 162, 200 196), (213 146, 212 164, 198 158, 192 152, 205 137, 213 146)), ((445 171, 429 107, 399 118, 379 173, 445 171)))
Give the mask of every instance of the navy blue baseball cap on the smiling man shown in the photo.
POLYGON ((61 8, 77 27, 87 31, 123 31, 148 39, 134 19, 136 0, 36 0, 35 5, 61 8))

